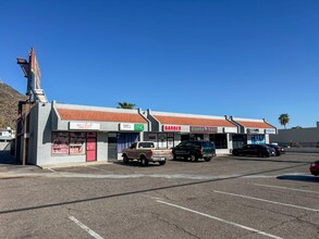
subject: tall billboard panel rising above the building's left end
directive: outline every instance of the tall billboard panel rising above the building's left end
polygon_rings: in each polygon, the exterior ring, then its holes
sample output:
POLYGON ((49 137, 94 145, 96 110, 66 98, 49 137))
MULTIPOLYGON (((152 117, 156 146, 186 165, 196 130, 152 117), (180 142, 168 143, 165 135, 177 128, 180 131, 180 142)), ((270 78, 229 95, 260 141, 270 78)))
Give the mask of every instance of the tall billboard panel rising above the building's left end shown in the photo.
POLYGON ((41 89, 41 70, 34 48, 32 48, 29 53, 29 87, 32 88, 32 90, 41 89))

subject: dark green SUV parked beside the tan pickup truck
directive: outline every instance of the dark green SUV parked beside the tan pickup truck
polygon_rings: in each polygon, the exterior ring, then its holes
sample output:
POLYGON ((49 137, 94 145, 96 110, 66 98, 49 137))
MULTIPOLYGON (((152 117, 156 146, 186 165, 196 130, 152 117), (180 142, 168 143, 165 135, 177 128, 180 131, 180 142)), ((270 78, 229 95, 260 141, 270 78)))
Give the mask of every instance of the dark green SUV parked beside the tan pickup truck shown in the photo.
POLYGON ((186 159, 198 161, 204 159, 206 162, 211 161, 216 156, 216 148, 213 142, 204 140, 187 140, 182 141, 172 150, 173 159, 186 159))

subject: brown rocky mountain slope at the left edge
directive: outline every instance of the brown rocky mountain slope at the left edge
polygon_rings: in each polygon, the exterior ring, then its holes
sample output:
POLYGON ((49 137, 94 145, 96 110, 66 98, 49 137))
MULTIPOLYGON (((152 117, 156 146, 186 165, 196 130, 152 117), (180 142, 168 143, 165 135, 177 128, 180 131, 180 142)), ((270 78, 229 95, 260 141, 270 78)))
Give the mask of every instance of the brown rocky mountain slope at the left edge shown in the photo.
POLYGON ((19 101, 25 100, 25 96, 0 80, 0 128, 15 128, 19 101))

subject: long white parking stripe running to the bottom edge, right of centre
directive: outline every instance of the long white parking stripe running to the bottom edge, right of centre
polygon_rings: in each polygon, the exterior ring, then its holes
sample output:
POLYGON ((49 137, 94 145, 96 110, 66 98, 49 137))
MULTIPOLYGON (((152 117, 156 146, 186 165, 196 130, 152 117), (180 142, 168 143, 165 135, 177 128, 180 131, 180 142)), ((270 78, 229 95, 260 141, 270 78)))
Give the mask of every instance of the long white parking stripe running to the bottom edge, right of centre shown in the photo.
POLYGON ((216 221, 219 221, 219 222, 222 222, 222 223, 235 226, 235 227, 240 227, 242 229, 246 229, 246 230, 249 230, 249 231, 253 231, 253 232, 256 232, 256 234, 260 234, 260 235, 263 235, 263 236, 267 236, 267 237, 270 237, 270 238, 282 239, 281 237, 278 237, 278 236, 274 236, 274 235, 271 235, 271 234, 267 234, 265 231, 257 230, 257 229, 254 229, 251 227, 247 227, 247 226, 244 226, 244 225, 241 225, 241 224, 237 224, 237 223, 225 221, 225 219, 222 219, 222 218, 219 218, 219 217, 206 214, 206 213, 201 213, 201 212, 198 212, 198 211, 195 211, 195 210, 191 210, 191 209, 187 209, 187 207, 184 207, 184 206, 181 206, 181 205, 164 202, 164 201, 161 201, 161 200, 157 200, 157 202, 162 203, 162 204, 167 204, 167 205, 170 205, 170 206, 174 206, 176 209, 181 209, 181 210, 184 210, 184 211, 187 211, 187 212, 191 212, 191 213, 195 213, 195 214, 198 214, 198 215, 201 215, 201 216, 206 216, 206 217, 209 217, 211 219, 216 219, 216 221))

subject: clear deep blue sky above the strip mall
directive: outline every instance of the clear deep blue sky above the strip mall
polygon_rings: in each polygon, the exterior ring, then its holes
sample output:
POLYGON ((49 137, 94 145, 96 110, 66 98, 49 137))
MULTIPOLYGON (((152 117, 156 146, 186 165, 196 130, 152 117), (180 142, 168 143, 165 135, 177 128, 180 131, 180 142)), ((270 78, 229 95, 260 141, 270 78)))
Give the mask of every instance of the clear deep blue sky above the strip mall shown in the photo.
POLYGON ((0 79, 51 102, 319 121, 318 0, 1 0, 0 79))

